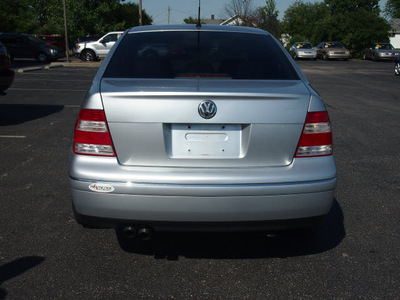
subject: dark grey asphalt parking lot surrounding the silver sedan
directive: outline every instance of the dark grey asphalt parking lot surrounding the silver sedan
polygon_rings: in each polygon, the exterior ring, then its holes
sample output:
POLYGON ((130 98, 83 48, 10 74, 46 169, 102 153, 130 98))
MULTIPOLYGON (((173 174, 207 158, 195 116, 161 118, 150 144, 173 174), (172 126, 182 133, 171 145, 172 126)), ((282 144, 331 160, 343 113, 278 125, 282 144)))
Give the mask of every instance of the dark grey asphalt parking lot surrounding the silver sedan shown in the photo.
POLYGON ((134 246, 73 219, 73 127, 97 68, 17 73, 0 96, 0 299, 397 299, 400 78, 387 62, 298 64, 334 130, 326 220, 273 238, 164 234, 134 246))

